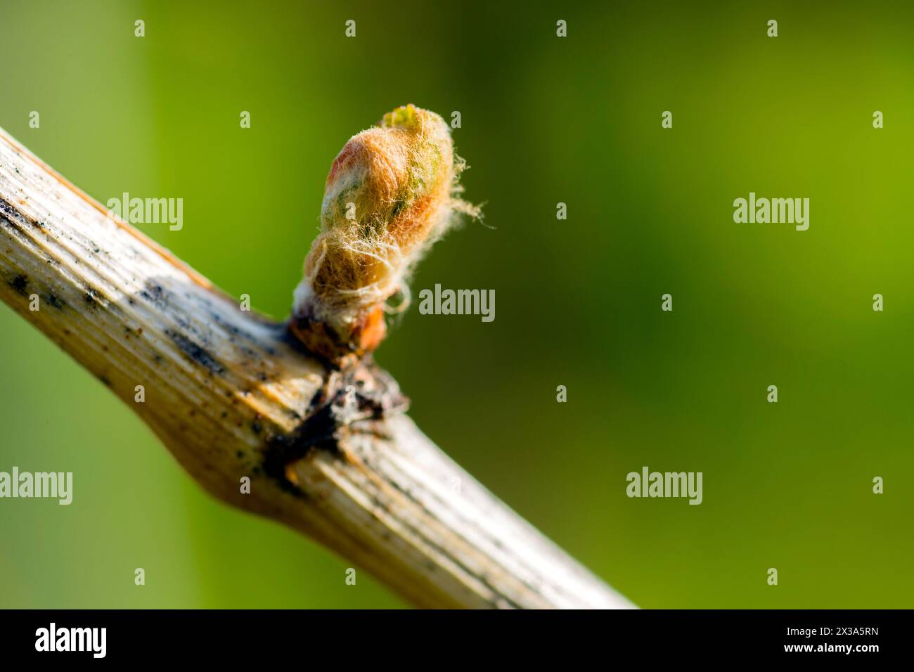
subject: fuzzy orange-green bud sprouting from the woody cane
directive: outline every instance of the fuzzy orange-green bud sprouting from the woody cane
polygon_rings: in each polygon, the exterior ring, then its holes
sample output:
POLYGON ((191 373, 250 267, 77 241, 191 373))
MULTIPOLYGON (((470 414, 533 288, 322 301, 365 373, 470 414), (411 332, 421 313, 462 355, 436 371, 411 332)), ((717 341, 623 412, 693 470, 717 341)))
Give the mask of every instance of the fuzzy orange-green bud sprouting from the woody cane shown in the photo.
POLYGON ((330 359, 373 350, 386 333, 387 301, 408 303, 409 271, 451 226, 475 215, 457 197, 463 168, 451 133, 434 112, 413 105, 384 115, 336 156, 327 176, 321 233, 294 293, 291 328, 330 359))

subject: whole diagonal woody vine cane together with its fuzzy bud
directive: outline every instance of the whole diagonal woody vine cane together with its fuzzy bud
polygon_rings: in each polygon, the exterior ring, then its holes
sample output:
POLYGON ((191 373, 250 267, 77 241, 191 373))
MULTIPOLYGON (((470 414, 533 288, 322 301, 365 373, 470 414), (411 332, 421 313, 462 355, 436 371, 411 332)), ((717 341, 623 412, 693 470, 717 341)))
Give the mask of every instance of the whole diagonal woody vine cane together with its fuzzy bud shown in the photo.
POLYGON ((0 298, 210 493, 307 534, 410 603, 631 607, 420 432, 371 357, 411 265, 453 213, 474 213, 455 189, 461 167, 446 124, 418 108, 356 135, 328 177, 292 317, 277 324, 0 133, 0 298))

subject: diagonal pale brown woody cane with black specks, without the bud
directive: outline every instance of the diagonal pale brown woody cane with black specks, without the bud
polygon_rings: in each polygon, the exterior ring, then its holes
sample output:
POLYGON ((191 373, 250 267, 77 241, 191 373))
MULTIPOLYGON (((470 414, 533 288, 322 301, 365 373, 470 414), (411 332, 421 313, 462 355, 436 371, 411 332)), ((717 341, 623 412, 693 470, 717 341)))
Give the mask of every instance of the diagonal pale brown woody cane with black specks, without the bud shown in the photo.
POLYGON ((106 214, 0 130, 0 299, 213 495, 317 539, 418 606, 632 606, 441 453, 370 361, 328 369, 285 325, 242 313, 106 214))

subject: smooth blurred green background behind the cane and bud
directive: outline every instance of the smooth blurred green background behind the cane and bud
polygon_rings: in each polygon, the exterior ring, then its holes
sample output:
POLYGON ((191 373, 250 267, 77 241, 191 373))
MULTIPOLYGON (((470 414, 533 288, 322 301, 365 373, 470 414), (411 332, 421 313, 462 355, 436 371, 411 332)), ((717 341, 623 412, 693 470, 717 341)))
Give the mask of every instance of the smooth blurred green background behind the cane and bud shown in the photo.
MULTIPOLYGON (((914 606, 912 11, 493 5, 2 0, 0 126, 102 202, 184 198, 140 228, 283 317, 345 140, 460 111, 487 226, 412 288, 494 289, 496 318, 392 330, 420 427, 643 607, 914 606), (809 197, 810 229, 735 224, 749 191, 809 197), (643 465, 703 472, 704 503, 627 498, 643 465)), ((5 306, 0 334, 0 470, 75 490, 0 500, 0 606, 404 605, 207 496, 5 306)))

